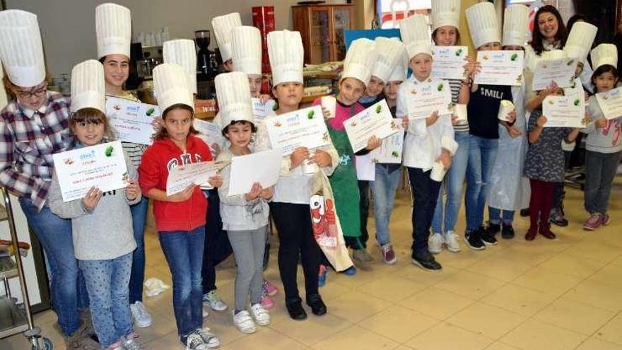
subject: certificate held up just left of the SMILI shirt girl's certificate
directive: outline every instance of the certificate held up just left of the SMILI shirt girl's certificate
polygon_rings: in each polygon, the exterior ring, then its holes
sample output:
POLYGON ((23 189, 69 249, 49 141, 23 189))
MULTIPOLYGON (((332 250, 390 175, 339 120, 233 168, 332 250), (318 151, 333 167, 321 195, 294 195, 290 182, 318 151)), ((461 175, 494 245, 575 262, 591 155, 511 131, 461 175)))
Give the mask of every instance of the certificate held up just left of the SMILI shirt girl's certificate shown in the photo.
POLYGON ((467 78, 464 69, 464 57, 469 54, 467 46, 434 46, 432 47, 432 77, 436 79, 467 78))

